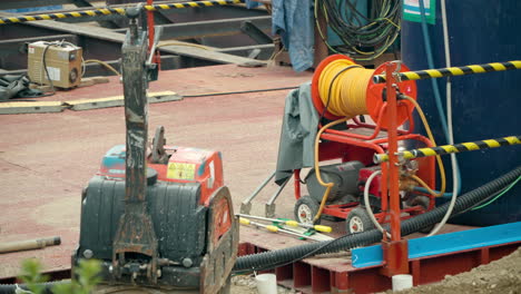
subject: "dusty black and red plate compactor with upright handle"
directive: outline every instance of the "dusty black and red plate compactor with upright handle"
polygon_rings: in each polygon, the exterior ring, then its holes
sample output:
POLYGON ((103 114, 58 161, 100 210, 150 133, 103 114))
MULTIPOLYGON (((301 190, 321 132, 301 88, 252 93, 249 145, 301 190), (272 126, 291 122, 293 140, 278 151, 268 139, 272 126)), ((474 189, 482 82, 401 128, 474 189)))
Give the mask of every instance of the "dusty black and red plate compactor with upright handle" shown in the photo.
POLYGON ((146 89, 155 65, 147 62, 147 31, 137 24, 139 17, 146 23, 144 14, 127 10, 127 144, 105 155, 83 190, 72 263, 100 259, 108 285, 217 293, 229 282, 238 245, 220 153, 165 146, 163 127, 147 144, 146 89))

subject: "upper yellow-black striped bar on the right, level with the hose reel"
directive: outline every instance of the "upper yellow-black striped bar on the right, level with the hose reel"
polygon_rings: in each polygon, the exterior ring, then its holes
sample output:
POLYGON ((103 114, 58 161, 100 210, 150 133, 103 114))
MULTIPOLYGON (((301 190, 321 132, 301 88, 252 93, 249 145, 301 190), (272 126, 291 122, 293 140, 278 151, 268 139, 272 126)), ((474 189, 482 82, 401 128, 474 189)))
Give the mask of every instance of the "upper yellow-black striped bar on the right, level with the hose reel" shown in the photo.
MULTIPOLYGON (((453 77, 453 76, 465 76, 473 74, 484 74, 492 71, 504 71, 521 69, 521 60, 512 60, 505 62, 492 62, 484 65, 471 65, 464 67, 450 67, 450 68, 439 68, 439 69, 424 69, 417 71, 405 71, 397 74, 399 80, 419 80, 419 79, 432 79, 432 78, 443 78, 443 77, 453 77)), ((373 81, 384 82, 385 75, 377 75, 373 77, 373 81)))

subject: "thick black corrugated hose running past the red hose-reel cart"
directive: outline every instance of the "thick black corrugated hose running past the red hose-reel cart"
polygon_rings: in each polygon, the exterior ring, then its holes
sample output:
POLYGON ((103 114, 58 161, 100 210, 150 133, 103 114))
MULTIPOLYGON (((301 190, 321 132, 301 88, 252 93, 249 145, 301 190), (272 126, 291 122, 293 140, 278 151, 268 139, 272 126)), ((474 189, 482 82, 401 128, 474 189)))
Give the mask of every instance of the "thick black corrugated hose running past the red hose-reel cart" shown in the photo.
MULTIPOLYGON (((483 186, 465 193, 458 197, 452 215, 464 212, 483 199, 490 197, 494 193, 505 188, 510 183, 521 176, 521 166, 514 170, 497 178, 483 186)), ((434 225, 446 213, 449 203, 432 209, 431 212, 417 215, 413 218, 402 222, 402 235, 409 235, 424 228, 429 225, 434 225)), ((382 233, 377 229, 363 232, 355 235, 347 235, 333 241, 317 242, 304 244, 295 247, 264 252, 240 256, 234 267, 234 272, 260 271, 278 267, 295 261, 299 261, 313 255, 324 253, 335 253, 346 251, 354 247, 366 246, 382 239, 382 233)))

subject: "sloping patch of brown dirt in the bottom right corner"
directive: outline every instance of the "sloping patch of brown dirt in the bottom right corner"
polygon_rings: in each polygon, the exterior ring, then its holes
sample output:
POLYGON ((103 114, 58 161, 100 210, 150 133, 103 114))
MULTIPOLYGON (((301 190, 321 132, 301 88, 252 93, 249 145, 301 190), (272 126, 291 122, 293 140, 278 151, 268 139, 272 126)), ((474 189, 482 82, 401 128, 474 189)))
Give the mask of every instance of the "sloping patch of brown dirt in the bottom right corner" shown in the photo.
MULTIPOLYGON (((386 293, 393 293, 387 291, 386 293)), ((521 247, 499 261, 470 272, 445 276, 440 283, 401 291, 403 294, 521 293, 521 247)))

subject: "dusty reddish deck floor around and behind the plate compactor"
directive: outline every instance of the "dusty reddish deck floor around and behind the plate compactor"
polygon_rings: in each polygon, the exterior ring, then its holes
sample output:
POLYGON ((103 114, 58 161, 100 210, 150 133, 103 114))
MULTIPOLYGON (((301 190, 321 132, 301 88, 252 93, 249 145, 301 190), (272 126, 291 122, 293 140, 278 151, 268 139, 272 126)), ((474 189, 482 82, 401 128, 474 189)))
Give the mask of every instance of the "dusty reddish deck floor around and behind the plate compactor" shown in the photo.
MULTIPOLYGON (((220 150, 225 184, 238 212, 240 202, 275 168, 284 101, 289 91, 286 88, 298 87, 311 78, 311 72, 296 74, 291 68, 235 65, 161 71, 149 91, 175 91, 184 99, 149 105, 149 137, 157 126, 164 126, 169 145, 220 150)), ((40 99, 70 101, 118 95, 122 95, 122 86, 112 77, 109 84, 40 99)), ((105 153, 125 144, 124 108, 2 115, 0 126, 0 241, 50 236, 62 241, 61 245, 45 249, 1 254, 0 280, 16 276, 20 262, 29 257, 39 258, 46 272, 67 271, 79 237, 81 190, 99 168, 105 153)), ((252 214, 264 215, 264 204, 275 189, 275 184, 266 187, 255 199, 252 214)), ((293 218, 294 203, 288 185, 276 203, 277 217, 293 218)), ((333 226, 334 236, 345 233, 344 223, 326 224, 333 226)), ((444 232, 460 229, 464 228, 449 226, 444 232)), ((266 248, 303 242, 266 237, 272 233, 253 228, 240 231, 242 242, 252 239, 264 243, 266 248)), ((420 235, 412 237, 415 236, 420 235)), ((315 262, 328 263, 321 258, 315 262)), ((233 293, 255 293, 253 285, 252 277, 235 277, 233 293)))

